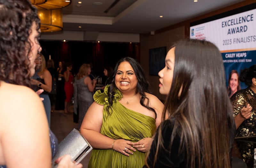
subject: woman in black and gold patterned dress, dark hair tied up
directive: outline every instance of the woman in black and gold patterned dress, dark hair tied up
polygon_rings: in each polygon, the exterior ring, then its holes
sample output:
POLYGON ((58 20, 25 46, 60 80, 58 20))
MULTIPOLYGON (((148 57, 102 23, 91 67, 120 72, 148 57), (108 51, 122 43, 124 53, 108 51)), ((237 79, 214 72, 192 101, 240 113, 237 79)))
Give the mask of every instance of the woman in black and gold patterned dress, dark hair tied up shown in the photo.
MULTIPOLYGON (((250 137, 256 135, 256 65, 241 70, 239 80, 248 87, 237 91, 230 98, 233 107, 233 116, 236 121, 236 137, 250 137)), ((253 167, 254 138, 251 142, 237 141, 237 146, 242 159, 248 168, 253 167)))

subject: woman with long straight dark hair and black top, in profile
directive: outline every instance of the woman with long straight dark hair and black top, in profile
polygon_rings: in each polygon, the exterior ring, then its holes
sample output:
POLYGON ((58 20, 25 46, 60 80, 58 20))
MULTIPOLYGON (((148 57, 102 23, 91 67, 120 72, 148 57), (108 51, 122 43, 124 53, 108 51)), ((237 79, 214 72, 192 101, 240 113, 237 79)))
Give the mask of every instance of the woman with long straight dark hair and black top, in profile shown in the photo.
POLYGON ((180 40, 158 75, 169 117, 156 131, 145 167, 231 168, 235 122, 218 48, 180 40))

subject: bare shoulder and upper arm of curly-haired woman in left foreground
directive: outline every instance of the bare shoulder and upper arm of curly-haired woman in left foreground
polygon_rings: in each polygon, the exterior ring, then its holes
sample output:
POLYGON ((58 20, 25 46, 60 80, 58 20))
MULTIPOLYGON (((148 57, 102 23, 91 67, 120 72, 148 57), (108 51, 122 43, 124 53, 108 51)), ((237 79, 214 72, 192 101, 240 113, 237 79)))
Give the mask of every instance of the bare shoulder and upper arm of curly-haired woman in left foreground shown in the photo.
POLYGON ((17 163, 19 167, 36 163, 39 165, 37 167, 49 167, 48 123, 43 103, 36 92, 26 86, 1 81, 0 102, 0 152, 1 149, 5 151, 5 162, 10 167, 17 167, 14 166, 17 163), (33 158, 32 162, 28 164, 24 156, 33 158))

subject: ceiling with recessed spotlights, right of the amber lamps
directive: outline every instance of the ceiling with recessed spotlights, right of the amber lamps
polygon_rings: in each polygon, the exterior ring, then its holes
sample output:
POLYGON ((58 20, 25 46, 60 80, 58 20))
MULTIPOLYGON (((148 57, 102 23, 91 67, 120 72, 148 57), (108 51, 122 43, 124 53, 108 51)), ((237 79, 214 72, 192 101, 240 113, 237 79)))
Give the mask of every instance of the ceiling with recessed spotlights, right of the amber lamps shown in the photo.
POLYGON ((242 1, 72 0, 63 8, 63 30, 147 34, 242 1), (116 5, 105 13, 114 2, 116 5))

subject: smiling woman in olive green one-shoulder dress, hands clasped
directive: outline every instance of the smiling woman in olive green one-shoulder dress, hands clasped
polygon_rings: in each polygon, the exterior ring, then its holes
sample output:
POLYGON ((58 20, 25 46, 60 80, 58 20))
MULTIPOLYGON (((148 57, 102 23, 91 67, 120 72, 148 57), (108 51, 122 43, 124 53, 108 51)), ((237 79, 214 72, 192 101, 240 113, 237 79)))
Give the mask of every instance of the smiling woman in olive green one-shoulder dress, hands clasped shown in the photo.
POLYGON ((89 167, 141 168, 164 105, 132 58, 119 60, 111 79, 103 93, 94 94, 80 128, 93 147, 89 167))

